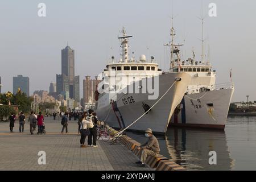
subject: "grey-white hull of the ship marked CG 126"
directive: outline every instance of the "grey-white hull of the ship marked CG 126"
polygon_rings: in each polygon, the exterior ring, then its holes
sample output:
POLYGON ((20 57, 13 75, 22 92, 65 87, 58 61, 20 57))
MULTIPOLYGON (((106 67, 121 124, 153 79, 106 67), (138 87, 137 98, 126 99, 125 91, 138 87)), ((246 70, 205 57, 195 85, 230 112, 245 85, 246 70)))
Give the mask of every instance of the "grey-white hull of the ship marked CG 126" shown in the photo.
MULTIPOLYGON (((147 78, 147 80, 154 82, 153 78, 147 78)), ((148 100, 149 94, 147 93, 117 94, 116 102, 113 106, 109 104, 101 104, 101 107, 97 108, 98 118, 104 120, 111 127, 124 129, 146 112, 145 106, 147 106, 147 108, 152 107, 167 92, 158 104, 134 123, 134 125, 129 127, 129 130, 134 131, 144 131, 147 128, 150 128, 154 133, 166 133, 171 116, 177 105, 180 104, 190 81, 191 76, 187 73, 168 73, 160 75, 159 94, 156 99, 148 100), (167 92, 177 77, 182 78, 182 80, 176 82, 167 92), (129 98, 133 99, 131 103, 125 102, 125 99, 129 101, 129 98), (104 107, 102 107, 102 105, 104 105, 104 107)), ((135 83, 135 85, 137 84, 135 83)), ((131 86, 134 88, 134 85, 129 85, 128 90, 131 86)), ((105 100, 107 101, 108 99, 106 97, 108 97, 108 95, 110 94, 102 96, 101 100, 104 100, 105 97, 105 100)), ((111 98, 113 96, 109 97, 111 98)), ((102 103, 100 100, 99 102, 102 103)))

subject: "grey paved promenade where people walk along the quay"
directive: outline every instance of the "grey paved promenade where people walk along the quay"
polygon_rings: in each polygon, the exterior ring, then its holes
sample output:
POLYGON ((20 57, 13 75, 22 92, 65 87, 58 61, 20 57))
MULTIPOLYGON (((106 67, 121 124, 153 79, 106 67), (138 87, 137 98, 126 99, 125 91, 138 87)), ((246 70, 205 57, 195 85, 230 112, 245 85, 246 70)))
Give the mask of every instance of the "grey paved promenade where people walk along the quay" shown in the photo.
POLYGON ((100 140, 97 148, 80 148, 77 127, 77 121, 69 121, 69 133, 60 134, 60 121, 49 117, 46 135, 30 135, 27 123, 24 133, 17 122, 10 133, 9 123, 0 122, 0 170, 152 170, 137 167, 138 158, 119 143, 110 146, 100 140), (46 152, 46 165, 38 164, 39 151, 46 152))

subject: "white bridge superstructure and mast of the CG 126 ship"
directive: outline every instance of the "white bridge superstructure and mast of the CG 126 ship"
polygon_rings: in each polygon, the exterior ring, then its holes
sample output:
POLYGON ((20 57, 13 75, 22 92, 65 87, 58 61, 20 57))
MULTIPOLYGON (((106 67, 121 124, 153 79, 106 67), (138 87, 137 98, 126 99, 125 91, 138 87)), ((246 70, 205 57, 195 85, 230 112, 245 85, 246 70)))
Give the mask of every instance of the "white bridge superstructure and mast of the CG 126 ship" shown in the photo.
POLYGON ((138 60, 135 60, 133 55, 129 59, 128 43, 131 37, 126 35, 125 28, 123 28, 122 36, 118 38, 121 40, 121 58, 115 60, 112 56, 104 69, 102 81, 108 85, 110 91, 118 91, 132 82, 162 74, 153 56, 147 60, 145 55, 141 55, 138 60))

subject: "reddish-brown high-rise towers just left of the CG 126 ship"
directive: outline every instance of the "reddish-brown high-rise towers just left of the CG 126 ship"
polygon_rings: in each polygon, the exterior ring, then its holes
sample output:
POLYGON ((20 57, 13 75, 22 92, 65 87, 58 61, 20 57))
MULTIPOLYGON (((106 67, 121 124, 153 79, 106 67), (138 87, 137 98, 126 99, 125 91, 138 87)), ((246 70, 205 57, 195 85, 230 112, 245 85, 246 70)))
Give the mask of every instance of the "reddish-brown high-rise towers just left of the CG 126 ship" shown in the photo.
POLYGON ((84 80, 84 104, 95 104, 94 93, 97 90, 97 85, 100 83, 98 77, 91 80, 90 76, 86 76, 84 80))

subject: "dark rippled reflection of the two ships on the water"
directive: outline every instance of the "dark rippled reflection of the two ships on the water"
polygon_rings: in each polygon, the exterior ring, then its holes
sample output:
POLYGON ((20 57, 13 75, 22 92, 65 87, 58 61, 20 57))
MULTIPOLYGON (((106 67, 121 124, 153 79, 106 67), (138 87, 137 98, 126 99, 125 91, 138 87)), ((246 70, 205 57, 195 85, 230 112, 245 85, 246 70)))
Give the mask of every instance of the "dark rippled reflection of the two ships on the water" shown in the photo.
MULTIPOLYGON (((147 139, 136 133, 130 137, 145 142, 147 139)), ((158 136, 156 136, 158 137, 158 136)), ((230 158, 224 131, 194 129, 168 129, 165 137, 158 137, 161 154, 189 170, 232 170, 234 160, 230 158), (209 151, 217 152, 217 165, 210 165, 209 151)))

